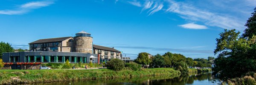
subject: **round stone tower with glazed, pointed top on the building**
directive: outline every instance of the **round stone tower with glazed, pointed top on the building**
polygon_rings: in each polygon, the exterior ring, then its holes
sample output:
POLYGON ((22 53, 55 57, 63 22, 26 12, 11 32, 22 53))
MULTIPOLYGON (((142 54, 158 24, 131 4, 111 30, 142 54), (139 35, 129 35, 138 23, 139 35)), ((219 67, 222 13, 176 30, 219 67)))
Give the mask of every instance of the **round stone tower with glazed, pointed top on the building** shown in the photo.
POLYGON ((90 34, 85 31, 77 33, 76 37, 74 37, 73 52, 92 54, 92 51, 93 37, 90 37, 90 34))

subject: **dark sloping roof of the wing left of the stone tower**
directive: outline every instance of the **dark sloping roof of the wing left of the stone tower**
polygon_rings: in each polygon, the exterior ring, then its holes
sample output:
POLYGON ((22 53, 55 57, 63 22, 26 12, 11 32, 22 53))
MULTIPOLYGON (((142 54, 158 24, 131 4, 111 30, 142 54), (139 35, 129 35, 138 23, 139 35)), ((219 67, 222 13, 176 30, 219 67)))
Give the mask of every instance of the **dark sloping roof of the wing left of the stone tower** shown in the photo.
POLYGON ((71 37, 59 37, 59 38, 40 39, 40 40, 36 40, 34 42, 30 42, 29 44, 45 43, 45 42, 60 42, 60 41, 63 41, 63 40, 67 40, 68 38, 71 38, 71 37))

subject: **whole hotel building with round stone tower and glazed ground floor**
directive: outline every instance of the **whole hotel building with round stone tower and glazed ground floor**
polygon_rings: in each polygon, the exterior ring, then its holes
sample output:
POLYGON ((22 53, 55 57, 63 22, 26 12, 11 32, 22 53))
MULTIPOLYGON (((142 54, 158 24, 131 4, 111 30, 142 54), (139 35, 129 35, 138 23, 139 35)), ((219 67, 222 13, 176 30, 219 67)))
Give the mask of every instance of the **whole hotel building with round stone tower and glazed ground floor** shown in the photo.
POLYGON ((83 62, 99 63, 113 58, 121 59, 121 52, 93 45, 93 37, 85 31, 76 37, 41 39, 29 43, 27 52, 3 53, 3 62, 83 62), (90 57, 97 57, 92 59, 90 57))

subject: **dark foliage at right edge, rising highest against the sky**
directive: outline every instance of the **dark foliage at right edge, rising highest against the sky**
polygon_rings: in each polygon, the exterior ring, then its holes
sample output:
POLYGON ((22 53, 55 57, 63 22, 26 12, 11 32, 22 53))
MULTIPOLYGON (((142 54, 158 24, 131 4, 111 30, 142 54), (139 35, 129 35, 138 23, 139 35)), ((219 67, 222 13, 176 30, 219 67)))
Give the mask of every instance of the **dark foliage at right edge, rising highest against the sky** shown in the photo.
POLYGON ((256 7, 251 17, 247 20, 247 23, 244 25, 247 28, 244 30, 243 37, 250 39, 253 35, 256 35, 256 7))

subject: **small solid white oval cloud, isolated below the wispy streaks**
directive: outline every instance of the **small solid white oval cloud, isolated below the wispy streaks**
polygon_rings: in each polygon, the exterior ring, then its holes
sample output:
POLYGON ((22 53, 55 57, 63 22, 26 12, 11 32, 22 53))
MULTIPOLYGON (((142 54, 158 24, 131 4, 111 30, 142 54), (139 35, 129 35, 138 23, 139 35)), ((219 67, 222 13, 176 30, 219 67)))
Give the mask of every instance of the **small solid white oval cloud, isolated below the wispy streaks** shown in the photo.
POLYGON ((206 26, 198 25, 198 24, 194 24, 194 23, 187 23, 187 24, 179 25, 179 26, 183 27, 183 28, 188 28, 188 29, 207 29, 206 26))

